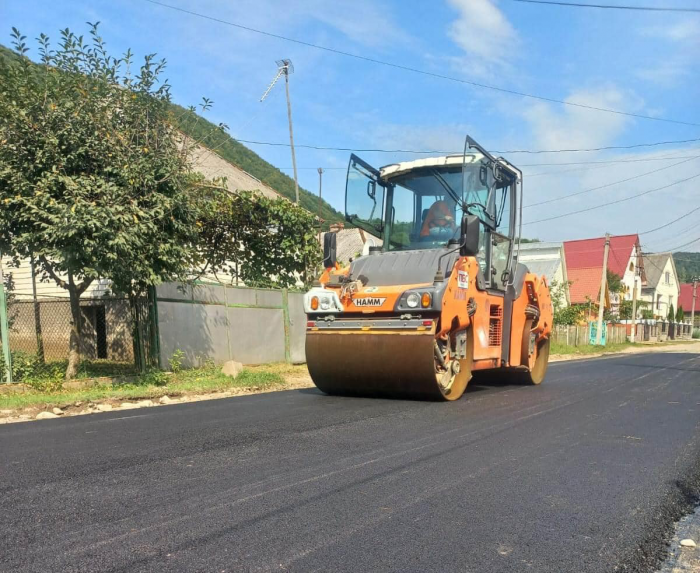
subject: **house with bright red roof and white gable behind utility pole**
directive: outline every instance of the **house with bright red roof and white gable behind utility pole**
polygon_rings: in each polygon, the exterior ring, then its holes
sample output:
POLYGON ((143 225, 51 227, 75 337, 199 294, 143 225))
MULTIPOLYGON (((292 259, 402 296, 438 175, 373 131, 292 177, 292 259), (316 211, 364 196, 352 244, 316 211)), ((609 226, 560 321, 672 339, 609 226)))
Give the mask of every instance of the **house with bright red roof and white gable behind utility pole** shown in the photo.
MULTIPOLYGON (((603 274, 603 257, 605 237, 564 241, 564 256, 569 273, 569 294, 571 304, 587 304, 589 300, 597 301, 600 296, 600 281, 603 274)), ((634 289, 640 297, 641 289, 646 284, 646 273, 639 235, 616 235, 610 237, 608 251, 608 271, 620 277, 624 293, 606 292, 606 306, 613 310, 619 308, 620 302, 631 300, 634 289), (635 276, 641 280, 636 281, 635 276)))

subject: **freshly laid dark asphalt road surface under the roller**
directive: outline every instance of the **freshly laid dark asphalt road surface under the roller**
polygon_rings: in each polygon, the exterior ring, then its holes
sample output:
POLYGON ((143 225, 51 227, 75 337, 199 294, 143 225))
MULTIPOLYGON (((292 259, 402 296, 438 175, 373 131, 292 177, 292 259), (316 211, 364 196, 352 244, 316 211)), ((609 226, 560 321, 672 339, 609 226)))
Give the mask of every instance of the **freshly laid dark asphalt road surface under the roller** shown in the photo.
POLYGON ((700 475, 700 355, 456 403, 315 390, 0 427, 7 571, 650 570, 700 475))

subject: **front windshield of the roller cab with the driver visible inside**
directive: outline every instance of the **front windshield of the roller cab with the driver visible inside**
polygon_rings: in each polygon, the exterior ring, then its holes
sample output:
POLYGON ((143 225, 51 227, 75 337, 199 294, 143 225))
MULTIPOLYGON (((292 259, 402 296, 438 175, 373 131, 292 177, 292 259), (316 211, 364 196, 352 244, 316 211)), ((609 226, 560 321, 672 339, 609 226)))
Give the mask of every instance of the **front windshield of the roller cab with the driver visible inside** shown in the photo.
POLYGON ((488 188, 480 182, 479 167, 465 166, 464 196, 462 165, 428 167, 391 178, 389 250, 438 249, 458 241, 462 218, 458 200, 486 220, 488 188))

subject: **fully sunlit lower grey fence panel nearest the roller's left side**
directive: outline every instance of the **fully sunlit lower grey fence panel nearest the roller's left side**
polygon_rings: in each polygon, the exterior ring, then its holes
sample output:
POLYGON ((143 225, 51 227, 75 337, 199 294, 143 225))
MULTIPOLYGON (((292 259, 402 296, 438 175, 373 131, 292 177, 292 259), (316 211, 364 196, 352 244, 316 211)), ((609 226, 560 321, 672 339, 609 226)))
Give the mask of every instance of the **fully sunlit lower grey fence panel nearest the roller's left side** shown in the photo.
POLYGON ((231 358, 243 364, 284 362, 282 309, 228 308, 231 358))

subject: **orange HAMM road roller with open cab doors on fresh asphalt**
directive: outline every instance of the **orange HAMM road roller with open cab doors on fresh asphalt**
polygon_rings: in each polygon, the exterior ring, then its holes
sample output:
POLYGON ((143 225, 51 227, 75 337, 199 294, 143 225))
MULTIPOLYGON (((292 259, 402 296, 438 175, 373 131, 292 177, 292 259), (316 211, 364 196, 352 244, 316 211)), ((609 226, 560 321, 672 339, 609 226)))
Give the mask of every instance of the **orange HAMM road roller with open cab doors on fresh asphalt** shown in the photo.
POLYGON ((352 155, 347 221, 382 239, 337 261, 304 299, 306 355, 330 394, 455 400, 472 374, 539 384, 552 306, 517 262, 521 172, 467 137, 463 154, 377 170, 352 155))

